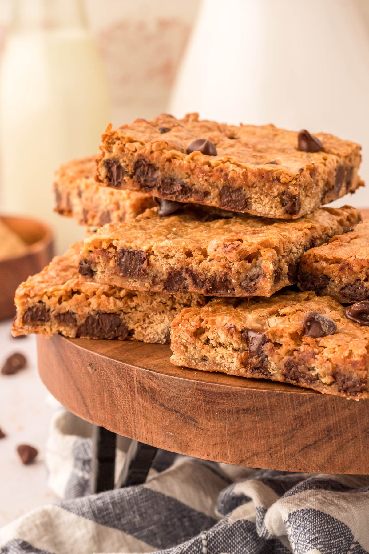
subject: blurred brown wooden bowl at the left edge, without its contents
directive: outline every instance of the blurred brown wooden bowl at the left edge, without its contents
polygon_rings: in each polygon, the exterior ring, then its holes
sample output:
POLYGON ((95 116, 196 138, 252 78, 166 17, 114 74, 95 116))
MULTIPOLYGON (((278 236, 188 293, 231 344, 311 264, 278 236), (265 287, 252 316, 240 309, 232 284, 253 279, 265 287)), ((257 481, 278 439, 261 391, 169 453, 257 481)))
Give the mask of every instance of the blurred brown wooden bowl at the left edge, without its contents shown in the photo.
POLYGON ((34 219, 11 216, 1 219, 29 244, 26 254, 0 260, 0 320, 3 320, 15 315, 17 286, 41 271, 53 257, 53 235, 47 225, 34 219))

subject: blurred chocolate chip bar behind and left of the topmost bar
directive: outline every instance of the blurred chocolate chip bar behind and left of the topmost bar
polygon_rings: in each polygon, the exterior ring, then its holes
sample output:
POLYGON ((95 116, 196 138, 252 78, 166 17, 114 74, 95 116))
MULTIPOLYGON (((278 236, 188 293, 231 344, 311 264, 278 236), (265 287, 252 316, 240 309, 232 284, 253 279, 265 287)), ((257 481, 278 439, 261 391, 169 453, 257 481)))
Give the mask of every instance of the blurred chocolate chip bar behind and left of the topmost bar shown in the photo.
POLYGON ((96 156, 72 160, 55 173, 55 211, 81 225, 101 227, 105 223, 127 221, 155 206, 148 194, 114 191, 95 181, 96 156))

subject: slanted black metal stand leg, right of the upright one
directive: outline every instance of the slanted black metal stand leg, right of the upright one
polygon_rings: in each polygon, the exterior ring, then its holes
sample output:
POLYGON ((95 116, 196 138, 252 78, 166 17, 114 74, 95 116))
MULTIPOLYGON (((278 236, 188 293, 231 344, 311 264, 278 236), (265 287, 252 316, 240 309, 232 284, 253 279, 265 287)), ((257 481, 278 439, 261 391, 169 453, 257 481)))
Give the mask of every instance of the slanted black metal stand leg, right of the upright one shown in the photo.
POLYGON ((155 447, 132 440, 116 484, 116 489, 144 483, 157 452, 158 449, 155 447))

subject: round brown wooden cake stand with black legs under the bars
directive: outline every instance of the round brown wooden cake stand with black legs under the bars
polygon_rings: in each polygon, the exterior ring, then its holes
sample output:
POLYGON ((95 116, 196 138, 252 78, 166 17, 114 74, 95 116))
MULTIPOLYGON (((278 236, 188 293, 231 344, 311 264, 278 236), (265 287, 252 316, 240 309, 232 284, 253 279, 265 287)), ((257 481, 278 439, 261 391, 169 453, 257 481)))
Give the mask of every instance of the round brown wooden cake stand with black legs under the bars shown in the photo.
POLYGON ((113 485, 115 434, 134 439, 119 485, 144 481, 157 448, 255 468, 369 474, 369 401, 176 367, 167 345, 59 335, 37 343, 45 386, 97 426, 93 490, 113 485))

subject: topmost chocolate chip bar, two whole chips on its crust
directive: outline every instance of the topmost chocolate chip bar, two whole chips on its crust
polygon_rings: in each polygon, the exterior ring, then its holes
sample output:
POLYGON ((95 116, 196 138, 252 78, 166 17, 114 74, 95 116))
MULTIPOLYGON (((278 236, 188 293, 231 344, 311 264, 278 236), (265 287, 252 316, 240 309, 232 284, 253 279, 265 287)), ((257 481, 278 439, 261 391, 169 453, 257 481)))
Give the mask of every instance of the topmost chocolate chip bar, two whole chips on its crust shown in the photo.
POLYGON ((97 180, 179 202, 296 219, 354 192, 360 146, 274 125, 225 125, 167 114, 102 135, 97 180))

